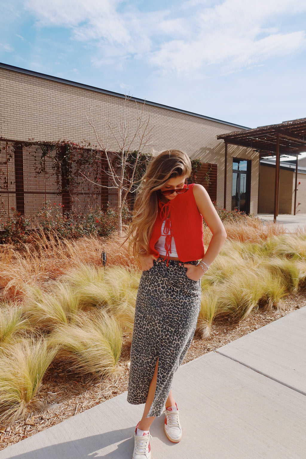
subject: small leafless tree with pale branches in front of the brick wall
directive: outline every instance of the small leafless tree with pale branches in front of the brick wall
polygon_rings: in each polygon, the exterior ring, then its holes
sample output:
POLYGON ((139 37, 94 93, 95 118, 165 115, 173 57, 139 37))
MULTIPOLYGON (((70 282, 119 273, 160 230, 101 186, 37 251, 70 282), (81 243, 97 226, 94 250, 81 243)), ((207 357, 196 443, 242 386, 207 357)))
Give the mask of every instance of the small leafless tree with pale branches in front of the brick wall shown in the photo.
POLYGON ((134 115, 134 126, 131 127, 127 120, 127 105, 131 100, 131 96, 126 95, 123 103, 122 117, 117 118, 115 125, 111 124, 109 118, 106 118, 102 112, 102 118, 105 122, 105 129, 99 133, 95 119, 92 115, 92 110, 89 108, 90 116, 86 115, 87 121, 94 129, 95 138, 100 149, 106 157, 108 164, 108 172, 111 178, 110 186, 96 184, 105 188, 116 188, 118 203, 117 203, 117 231, 122 235, 122 209, 127 199, 128 193, 134 193, 139 187, 139 177, 137 176, 137 166, 140 158, 145 154, 145 147, 151 144, 152 128, 150 128, 150 115, 145 118, 143 103, 142 109, 135 101, 136 110, 134 115), (117 158, 116 163, 111 161, 111 154, 117 158), (132 156, 132 152, 134 156, 132 156))

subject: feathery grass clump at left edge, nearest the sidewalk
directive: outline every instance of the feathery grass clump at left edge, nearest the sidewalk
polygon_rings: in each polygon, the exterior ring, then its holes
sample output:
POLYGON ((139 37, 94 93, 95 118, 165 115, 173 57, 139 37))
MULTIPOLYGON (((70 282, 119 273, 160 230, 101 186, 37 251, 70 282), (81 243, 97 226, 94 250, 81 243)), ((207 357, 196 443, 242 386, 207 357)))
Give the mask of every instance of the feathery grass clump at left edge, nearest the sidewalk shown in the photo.
POLYGON ((11 343, 0 356, 0 418, 11 423, 44 405, 36 400, 40 383, 56 356, 45 339, 28 338, 11 343))

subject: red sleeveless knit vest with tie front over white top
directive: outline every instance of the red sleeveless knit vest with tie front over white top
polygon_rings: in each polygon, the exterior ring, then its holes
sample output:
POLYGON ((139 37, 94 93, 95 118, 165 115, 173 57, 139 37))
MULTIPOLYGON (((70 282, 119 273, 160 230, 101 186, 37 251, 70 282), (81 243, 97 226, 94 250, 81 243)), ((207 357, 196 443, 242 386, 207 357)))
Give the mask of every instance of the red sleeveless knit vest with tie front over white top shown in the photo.
MULTIPOLYGON (((193 185, 189 185, 186 193, 177 195, 175 199, 169 201, 172 235, 178 258, 184 263, 204 257, 203 218, 195 202, 193 185)), ((159 257, 154 246, 161 237, 161 206, 159 202, 158 214, 150 238, 150 254, 155 257, 159 257)))

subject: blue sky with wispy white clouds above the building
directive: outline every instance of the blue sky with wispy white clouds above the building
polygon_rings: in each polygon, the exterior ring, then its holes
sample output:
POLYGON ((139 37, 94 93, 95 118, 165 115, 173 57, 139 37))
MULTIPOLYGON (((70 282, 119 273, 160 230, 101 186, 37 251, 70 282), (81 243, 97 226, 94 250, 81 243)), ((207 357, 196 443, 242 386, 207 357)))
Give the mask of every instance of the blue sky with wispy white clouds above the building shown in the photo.
POLYGON ((0 61, 248 127, 306 117, 305 0, 0 0, 0 61))

